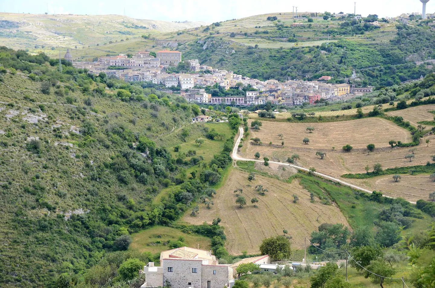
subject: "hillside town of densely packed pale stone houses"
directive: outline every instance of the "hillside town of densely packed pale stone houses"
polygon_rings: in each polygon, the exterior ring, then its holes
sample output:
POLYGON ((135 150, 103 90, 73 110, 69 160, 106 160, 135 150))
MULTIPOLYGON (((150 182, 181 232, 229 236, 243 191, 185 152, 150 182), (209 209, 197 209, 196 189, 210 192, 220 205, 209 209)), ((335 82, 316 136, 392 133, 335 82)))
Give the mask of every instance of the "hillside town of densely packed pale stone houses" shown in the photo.
MULTIPOLYGON (((331 76, 322 76, 318 80, 288 80, 279 82, 270 79, 261 81, 234 74, 232 71, 213 69, 201 65, 197 59, 187 60, 190 66, 189 74, 167 73, 167 67, 176 66, 181 61, 181 52, 162 50, 153 57, 147 51, 137 52, 133 57, 118 55, 115 57, 100 57, 96 62, 73 62, 78 68, 87 68, 94 74, 104 72, 108 77, 130 81, 149 81, 163 84, 172 93, 171 87, 181 88, 181 97, 189 102, 227 104, 227 105, 262 105, 266 102, 284 106, 297 106, 304 103, 315 104, 321 99, 345 100, 364 93, 371 92, 372 87, 355 87, 349 84, 329 84, 331 76), (122 67, 124 69, 113 69, 122 67), (201 73, 200 73, 201 71, 201 73), (251 87, 255 91, 247 91, 246 95, 234 97, 213 97, 204 88, 218 84, 225 90, 251 87), (195 87, 195 88, 194 88, 195 87)), ((352 76, 355 78, 356 74, 352 76)))

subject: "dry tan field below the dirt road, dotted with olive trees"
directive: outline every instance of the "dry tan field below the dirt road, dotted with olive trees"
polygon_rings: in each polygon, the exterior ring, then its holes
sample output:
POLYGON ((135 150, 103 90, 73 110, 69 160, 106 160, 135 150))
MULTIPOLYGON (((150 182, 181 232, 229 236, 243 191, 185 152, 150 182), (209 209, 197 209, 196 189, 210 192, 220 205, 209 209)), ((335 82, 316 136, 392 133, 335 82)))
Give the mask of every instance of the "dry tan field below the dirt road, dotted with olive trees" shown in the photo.
POLYGON ((183 220, 192 224, 211 223, 213 218, 220 217, 227 235, 227 249, 233 255, 258 253, 264 238, 281 234, 284 229, 292 236, 294 247, 302 248, 304 237, 309 237, 311 231, 320 224, 344 223, 348 225, 341 211, 335 206, 328 206, 310 202, 310 194, 302 188, 297 180, 291 184, 274 178, 255 176, 255 180, 248 181, 248 173, 232 168, 228 181, 218 190, 214 198, 214 205, 206 209, 201 205, 200 213, 196 217, 185 214, 183 220), (261 184, 269 192, 261 196, 255 191, 255 186, 261 184), (241 194, 246 198, 247 205, 239 208, 235 203, 234 189, 241 188, 241 194), (293 203, 293 194, 300 199, 293 203), (251 198, 258 199, 258 208, 251 204, 251 198), (319 221, 316 221, 317 217, 319 221))

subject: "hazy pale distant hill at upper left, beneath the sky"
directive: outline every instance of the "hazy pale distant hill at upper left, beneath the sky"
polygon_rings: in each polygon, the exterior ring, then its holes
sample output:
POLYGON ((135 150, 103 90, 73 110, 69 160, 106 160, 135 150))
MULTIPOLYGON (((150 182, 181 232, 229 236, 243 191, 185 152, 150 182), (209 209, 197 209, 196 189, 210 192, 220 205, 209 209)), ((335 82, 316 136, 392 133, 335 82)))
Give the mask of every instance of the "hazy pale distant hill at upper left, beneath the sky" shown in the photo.
POLYGON ((14 49, 84 48, 127 37, 206 26, 204 22, 165 22, 122 15, 44 15, 0 13, 0 44, 14 49))

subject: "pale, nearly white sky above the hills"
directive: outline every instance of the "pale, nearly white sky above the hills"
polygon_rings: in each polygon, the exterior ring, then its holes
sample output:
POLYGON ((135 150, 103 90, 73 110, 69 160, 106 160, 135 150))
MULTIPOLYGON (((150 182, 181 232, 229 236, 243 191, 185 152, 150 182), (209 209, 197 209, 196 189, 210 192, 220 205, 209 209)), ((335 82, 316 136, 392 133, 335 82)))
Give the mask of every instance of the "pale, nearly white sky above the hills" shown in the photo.
MULTIPOLYGON (((394 17, 402 13, 422 12, 419 0, 355 1, 356 13, 362 16, 378 14, 379 17, 394 17)), ((301 12, 353 13, 354 0, 0 0, 1 12, 124 15, 125 9, 126 16, 136 19, 207 23, 273 12, 291 12, 293 6, 298 6, 301 12)), ((426 12, 435 12, 435 0, 427 3, 426 12)))

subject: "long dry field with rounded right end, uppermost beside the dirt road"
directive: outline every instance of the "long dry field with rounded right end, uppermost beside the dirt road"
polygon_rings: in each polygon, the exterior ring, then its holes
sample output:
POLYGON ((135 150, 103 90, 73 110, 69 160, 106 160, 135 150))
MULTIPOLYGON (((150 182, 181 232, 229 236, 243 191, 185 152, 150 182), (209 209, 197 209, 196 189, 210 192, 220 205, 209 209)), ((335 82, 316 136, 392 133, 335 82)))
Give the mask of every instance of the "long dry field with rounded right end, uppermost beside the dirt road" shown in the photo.
POLYGON ((281 137, 278 137, 278 134, 283 134, 285 148, 341 149, 344 145, 351 144, 355 149, 365 148, 370 143, 376 147, 388 147, 388 141, 391 139, 404 143, 412 141, 407 130, 377 117, 328 123, 263 121, 262 124, 260 130, 251 130, 251 137, 259 137, 264 144, 272 141, 273 144, 280 145, 281 137), (306 131, 308 126, 314 127, 315 130, 309 133, 306 131), (309 138, 309 144, 302 142, 305 137, 309 138))

